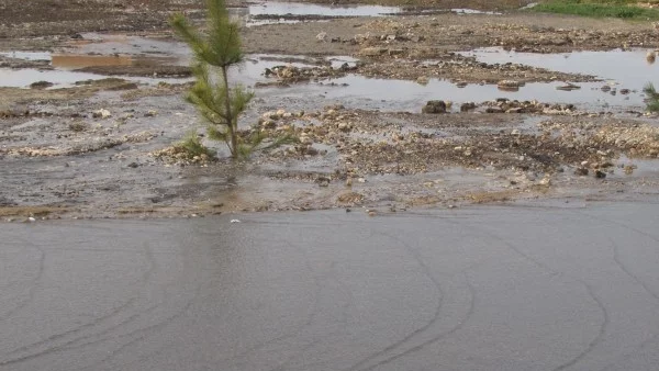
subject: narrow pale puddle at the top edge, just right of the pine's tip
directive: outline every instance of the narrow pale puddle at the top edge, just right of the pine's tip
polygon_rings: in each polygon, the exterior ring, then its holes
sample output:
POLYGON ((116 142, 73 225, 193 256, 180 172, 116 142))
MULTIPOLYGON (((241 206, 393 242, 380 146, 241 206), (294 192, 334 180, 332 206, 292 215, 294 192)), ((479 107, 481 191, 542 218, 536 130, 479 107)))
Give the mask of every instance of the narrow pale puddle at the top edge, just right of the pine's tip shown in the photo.
POLYGON ((323 15, 323 16, 381 16, 400 13, 401 8, 381 5, 317 5, 311 3, 268 1, 248 8, 249 15, 323 15))

